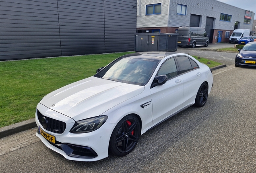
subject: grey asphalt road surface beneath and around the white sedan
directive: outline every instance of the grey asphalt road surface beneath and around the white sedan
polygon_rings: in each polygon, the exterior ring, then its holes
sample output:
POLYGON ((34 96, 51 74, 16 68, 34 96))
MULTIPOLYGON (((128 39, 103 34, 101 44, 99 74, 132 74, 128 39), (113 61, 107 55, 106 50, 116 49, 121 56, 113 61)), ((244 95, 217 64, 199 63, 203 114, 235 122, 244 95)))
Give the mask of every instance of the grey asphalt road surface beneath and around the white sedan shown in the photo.
POLYGON ((190 107, 141 135, 125 157, 68 161, 31 129, 0 139, 0 172, 256 172, 256 68, 230 65, 213 75, 204 107, 190 107))

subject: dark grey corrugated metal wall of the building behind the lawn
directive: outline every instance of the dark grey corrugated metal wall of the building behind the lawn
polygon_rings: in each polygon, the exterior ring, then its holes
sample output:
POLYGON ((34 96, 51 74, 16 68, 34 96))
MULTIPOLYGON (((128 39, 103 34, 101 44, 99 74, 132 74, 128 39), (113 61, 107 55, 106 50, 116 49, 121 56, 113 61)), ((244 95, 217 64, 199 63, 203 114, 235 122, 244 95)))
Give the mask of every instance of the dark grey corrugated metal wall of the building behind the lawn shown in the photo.
POLYGON ((134 50, 136 0, 0 0, 0 60, 134 50))

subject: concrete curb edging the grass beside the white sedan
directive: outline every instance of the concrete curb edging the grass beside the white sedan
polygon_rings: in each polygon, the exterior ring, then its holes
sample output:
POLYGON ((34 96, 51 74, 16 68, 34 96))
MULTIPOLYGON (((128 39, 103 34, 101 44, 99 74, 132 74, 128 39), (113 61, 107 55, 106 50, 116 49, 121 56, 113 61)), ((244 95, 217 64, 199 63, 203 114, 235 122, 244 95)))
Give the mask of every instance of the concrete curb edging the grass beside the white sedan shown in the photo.
MULTIPOLYGON (((225 66, 226 66, 225 64, 215 66, 215 67, 212 67, 211 70, 216 70, 216 69, 219 69, 219 68, 222 68, 222 67, 225 67, 225 66)), ((25 131, 25 130, 28 130, 28 129, 31 129, 31 128, 34 128, 34 127, 37 127, 37 124, 35 123, 34 118, 30 119, 30 120, 27 120, 27 121, 20 122, 20 123, 16 123, 16 124, 13 124, 13 125, 9 125, 9 126, 6 126, 6 127, 1 127, 0 128, 0 138, 6 137, 6 136, 9 136, 9 135, 13 135, 15 133, 25 131)))

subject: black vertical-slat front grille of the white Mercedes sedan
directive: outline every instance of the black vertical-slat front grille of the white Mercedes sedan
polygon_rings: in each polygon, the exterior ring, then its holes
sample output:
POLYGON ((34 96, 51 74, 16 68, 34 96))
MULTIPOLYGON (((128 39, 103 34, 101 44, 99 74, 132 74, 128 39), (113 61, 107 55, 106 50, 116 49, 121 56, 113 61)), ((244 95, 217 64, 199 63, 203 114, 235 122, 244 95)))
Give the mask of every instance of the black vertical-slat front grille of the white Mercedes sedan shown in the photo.
POLYGON ((61 134, 66 129, 66 123, 64 123, 62 121, 58 121, 56 119, 46 117, 43 114, 41 114, 38 110, 37 110, 37 118, 39 120, 39 123, 42 125, 42 127, 47 131, 61 134), (43 125, 43 123, 42 123, 42 118, 44 118, 44 117, 46 119, 46 124, 45 124, 46 128, 45 128, 45 125, 43 125))

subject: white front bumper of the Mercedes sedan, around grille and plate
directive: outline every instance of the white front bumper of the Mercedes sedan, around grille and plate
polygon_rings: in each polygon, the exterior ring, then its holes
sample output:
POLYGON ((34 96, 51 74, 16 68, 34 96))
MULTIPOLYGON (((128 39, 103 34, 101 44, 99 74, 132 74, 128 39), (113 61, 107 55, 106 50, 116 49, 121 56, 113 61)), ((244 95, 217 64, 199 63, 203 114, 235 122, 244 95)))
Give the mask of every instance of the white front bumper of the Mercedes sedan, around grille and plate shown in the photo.
POLYGON ((39 130, 37 131, 36 136, 41 139, 46 147, 60 153, 66 159, 74 161, 97 161, 108 157, 109 139, 115 124, 106 122, 96 131, 74 134, 69 132, 75 122, 73 119, 55 111, 54 114, 50 114, 53 111, 41 104, 37 105, 37 109, 47 117, 66 123, 66 129, 61 134, 47 131, 39 123, 36 112, 35 122, 37 123, 37 126, 45 133, 55 137, 55 143, 52 143, 45 139, 45 137, 39 133, 39 130))

